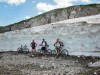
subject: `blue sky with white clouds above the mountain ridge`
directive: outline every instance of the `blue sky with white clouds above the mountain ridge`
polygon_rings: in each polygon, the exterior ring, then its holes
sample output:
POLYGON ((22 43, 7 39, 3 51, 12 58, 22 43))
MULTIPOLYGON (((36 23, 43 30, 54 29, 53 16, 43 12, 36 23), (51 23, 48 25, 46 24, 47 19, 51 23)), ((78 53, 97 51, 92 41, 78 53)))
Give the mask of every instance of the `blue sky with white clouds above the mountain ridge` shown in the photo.
POLYGON ((0 0, 0 26, 29 19, 53 9, 92 3, 100 3, 100 0, 0 0))

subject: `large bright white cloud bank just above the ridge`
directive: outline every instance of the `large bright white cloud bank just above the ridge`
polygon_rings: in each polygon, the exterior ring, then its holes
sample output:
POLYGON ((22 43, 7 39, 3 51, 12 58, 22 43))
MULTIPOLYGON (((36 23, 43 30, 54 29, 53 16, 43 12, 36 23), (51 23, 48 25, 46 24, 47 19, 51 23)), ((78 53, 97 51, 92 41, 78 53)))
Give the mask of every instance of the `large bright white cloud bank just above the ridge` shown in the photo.
POLYGON ((39 2, 36 7, 39 11, 46 12, 50 11, 56 8, 63 8, 63 7, 69 7, 73 6, 74 2, 84 2, 84 3, 90 3, 91 0, 54 0, 55 5, 48 4, 45 2, 39 2))

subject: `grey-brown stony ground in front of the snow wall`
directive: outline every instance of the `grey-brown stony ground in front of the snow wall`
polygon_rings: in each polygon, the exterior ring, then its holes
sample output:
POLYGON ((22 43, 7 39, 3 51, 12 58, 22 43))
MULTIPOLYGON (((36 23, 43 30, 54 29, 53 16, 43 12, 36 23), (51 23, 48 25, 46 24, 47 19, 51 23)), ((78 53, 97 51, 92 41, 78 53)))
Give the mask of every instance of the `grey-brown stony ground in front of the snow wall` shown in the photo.
POLYGON ((17 52, 0 53, 0 75, 100 75, 100 67, 89 67, 99 57, 30 57, 17 52))

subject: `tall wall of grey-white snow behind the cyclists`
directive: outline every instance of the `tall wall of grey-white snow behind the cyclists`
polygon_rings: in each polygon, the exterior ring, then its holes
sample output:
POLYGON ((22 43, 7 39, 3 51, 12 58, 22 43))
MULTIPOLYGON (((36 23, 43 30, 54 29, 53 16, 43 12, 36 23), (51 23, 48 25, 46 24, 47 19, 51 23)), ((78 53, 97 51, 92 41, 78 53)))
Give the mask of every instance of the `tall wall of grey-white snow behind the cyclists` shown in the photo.
POLYGON ((0 34, 0 51, 16 51, 20 45, 27 45, 34 39, 39 44, 46 39, 49 48, 59 38, 70 55, 100 56, 100 15, 81 17, 57 23, 16 30, 0 34), (95 22, 97 24, 95 24, 95 22), (89 22, 89 23, 88 23, 89 22))

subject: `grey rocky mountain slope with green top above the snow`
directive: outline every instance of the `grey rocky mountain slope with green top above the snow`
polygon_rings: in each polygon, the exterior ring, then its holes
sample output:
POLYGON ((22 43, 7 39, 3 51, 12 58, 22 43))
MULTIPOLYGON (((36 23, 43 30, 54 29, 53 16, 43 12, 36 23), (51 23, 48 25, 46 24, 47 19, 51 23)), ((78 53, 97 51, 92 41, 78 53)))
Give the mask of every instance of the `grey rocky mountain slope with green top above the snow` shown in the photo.
POLYGON ((0 33, 96 14, 100 14, 100 4, 78 5, 60 8, 6 27, 0 27, 0 33))

